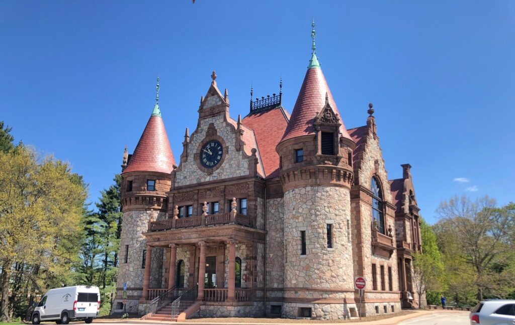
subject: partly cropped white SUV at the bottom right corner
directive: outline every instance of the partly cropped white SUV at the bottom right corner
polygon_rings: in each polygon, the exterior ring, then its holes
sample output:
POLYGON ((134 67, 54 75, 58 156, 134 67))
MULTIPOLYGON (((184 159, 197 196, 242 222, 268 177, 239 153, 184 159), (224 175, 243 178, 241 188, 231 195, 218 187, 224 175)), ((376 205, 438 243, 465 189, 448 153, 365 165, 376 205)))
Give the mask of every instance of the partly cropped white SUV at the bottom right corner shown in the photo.
POLYGON ((515 325, 515 300, 485 300, 470 311, 470 324, 515 325))

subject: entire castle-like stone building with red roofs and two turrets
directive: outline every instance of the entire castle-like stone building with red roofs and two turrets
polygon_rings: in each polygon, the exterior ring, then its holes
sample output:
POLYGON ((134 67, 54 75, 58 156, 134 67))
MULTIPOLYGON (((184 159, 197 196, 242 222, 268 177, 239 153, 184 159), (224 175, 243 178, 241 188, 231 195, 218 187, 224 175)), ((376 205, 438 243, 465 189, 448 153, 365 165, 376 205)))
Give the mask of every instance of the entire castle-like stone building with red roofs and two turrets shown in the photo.
POLYGON ((152 319, 342 319, 413 306, 411 253, 421 241, 410 166, 388 179, 372 104, 366 125, 346 128, 314 25, 312 37, 291 114, 282 92, 251 92, 248 115, 231 118, 213 71, 179 164, 156 98, 124 154, 113 312, 122 311, 124 283, 126 311, 152 319), (366 279, 362 297, 357 276, 366 279))

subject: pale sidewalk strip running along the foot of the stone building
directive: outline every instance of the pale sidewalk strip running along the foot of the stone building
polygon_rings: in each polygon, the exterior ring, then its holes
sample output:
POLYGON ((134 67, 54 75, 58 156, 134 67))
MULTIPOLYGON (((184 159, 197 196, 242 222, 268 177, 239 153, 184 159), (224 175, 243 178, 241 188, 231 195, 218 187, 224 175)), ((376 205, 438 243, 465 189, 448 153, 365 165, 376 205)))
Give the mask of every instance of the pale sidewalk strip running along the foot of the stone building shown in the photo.
MULTIPOLYGON (((225 322, 225 321, 218 321, 218 322, 206 321, 206 322, 203 322, 203 321, 199 321, 199 319, 197 321, 183 321, 183 322, 169 322, 169 321, 141 320, 141 319, 130 319, 130 320, 125 320, 125 319, 95 319, 95 323, 115 323, 115 322, 116 323, 126 323, 126 324, 170 324, 170 323, 177 323, 177 324, 189 324, 189 325, 193 325, 193 324, 195 324, 195 325, 222 325, 222 324, 227 324, 227 325, 263 325, 263 324, 266 324, 266 325, 285 325, 285 324, 288 324, 288 325, 304 325, 306 323, 311 323, 311 324, 318 323, 318 324, 341 324, 341 325, 346 325, 346 324, 396 325, 399 322, 401 322, 403 320, 406 320, 406 319, 410 319, 410 318, 414 318, 414 317, 418 317, 418 316, 423 316, 423 315, 428 315, 428 314, 441 313, 441 312, 445 312, 445 313, 464 313, 462 311, 449 311, 449 310, 414 310, 414 313, 411 313, 411 314, 408 314, 408 315, 394 316, 394 317, 384 318, 384 319, 380 319, 380 320, 366 321, 365 318, 364 318, 364 321, 359 321, 358 319, 356 319, 356 320, 352 320, 352 321, 342 321, 342 322, 338 322, 338 321, 334 321, 334 322, 331 322, 331 321, 316 321, 316 320, 314 320, 314 321, 302 320, 302 321, 296 322, 295 319, 288 319, 288 321, 281 322, 282 319, 280 319, 280 318, 272 318, 272 319, 268 318, 268 319, 266 319, 266 322, 265 321, 260 322, 260 320, 264 320, 264 319, 263 318, 248 318, 248 319, 246 319, 246 321, 228 321, 228 322, 225 322)), ((227 320, 230 320, 230 318, 228 318, 227 320)))

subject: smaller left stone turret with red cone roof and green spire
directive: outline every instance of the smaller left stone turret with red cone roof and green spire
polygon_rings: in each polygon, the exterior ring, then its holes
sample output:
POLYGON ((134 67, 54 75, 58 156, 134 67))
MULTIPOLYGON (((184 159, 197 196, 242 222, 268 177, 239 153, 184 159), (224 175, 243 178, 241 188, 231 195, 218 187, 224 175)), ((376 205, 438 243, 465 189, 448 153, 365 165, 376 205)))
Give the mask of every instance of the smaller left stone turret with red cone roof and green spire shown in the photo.
MULTIPOLYGON (((166 192, 171 186, 171 171, 176 168, 168 136, 159 108, 159 77, 156 85, 156 104, 152 110, 140 141, 132 155, 124 151, 122 163, 122 233, 120 239, 120 262, 117 288, 127 284, 129 299, 126 311, 138 313, 143 296, 144 260, 146 240, 143 233, 148 230, 150 221, 166 218, 166 192)), ((152 250, 151 274, 161 272, 163 248, 152 250)), ((154 276, 151 281, 160 281, 161 276, 154 276)), ((150 283, 150 288, 160 288, 161 282, 150 283)), ((121 297, 122 292, 117 296, 121 297)), ((113 311, 118 311, 121 299, 113 303, 113 311)))

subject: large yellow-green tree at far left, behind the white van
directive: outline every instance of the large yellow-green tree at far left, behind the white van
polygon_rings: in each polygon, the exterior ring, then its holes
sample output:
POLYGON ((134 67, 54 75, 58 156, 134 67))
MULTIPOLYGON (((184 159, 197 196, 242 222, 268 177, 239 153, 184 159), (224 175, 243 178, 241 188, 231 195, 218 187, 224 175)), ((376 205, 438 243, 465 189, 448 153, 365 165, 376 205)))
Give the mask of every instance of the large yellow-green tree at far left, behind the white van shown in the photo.
POLYGON ((13 285, 26 281, 41 293, 72 280, 86 198, 66 163, 23 145, 0 151, 0 321, 16 303, 9 304, 13 285))

